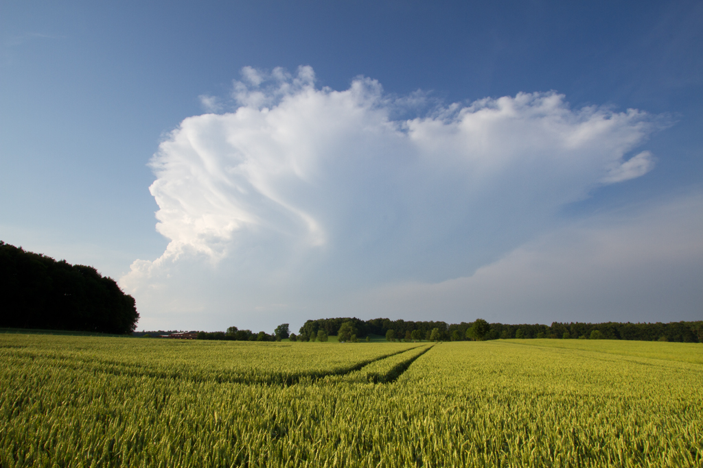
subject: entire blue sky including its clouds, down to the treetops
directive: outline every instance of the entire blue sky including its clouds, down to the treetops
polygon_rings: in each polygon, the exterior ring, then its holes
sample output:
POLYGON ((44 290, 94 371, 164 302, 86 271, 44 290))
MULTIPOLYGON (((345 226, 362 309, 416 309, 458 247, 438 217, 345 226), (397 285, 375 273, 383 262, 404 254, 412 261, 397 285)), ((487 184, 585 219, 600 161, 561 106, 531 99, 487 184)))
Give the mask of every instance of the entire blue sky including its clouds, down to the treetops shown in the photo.
POLYGON ((702 319, 701 24, 3 2, 0 239, 117 279, 140 329, 702 319))

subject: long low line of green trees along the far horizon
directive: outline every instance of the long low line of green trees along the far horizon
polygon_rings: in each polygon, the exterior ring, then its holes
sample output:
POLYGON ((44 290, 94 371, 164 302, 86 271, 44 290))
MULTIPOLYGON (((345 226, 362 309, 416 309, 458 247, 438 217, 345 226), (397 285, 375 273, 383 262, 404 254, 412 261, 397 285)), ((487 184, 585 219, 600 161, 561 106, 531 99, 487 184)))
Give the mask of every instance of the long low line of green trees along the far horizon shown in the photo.
POLYGON ((323 332, 324 336, 336 336, 342 324, 351 328, 349 334, 357 339, 368 335, 382 335, 389 340, 497 340, 498 338, 558 338, 558 339, 604 339, 641 340, 703 343, 703 321, 671 323, 559 323, 549 325, 521 324, 506 325, 488 323, 482 319, 470 323, 443 321, 404 321, 390 319, 361 320, 356 317, 308 320, 299 330, 299 335, 288 333, 288 324, 268 333, 252 333, 232 326, 226 332, 200 332, 200 340, 273 341, 287 338, 291 340, 315 340, 323 332))

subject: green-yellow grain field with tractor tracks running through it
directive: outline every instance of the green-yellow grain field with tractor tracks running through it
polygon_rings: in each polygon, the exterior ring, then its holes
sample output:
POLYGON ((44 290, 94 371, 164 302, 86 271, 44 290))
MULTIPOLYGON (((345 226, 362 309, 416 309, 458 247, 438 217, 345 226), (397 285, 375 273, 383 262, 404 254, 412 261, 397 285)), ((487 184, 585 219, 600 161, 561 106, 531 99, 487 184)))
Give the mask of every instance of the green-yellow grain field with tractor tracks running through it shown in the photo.
POLYGON ((0 467, 703 467, 703 345, 0 335, 0 467))

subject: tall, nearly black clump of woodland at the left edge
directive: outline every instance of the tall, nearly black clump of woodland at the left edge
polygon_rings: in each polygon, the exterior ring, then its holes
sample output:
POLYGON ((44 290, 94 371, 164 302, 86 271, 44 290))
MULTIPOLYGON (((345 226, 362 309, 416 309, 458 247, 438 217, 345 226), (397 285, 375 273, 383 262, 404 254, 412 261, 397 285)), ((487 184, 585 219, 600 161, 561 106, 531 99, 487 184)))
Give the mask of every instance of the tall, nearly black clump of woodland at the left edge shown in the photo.
POLYGON ((129 334, 134 298, 93 267, 0 241, 0 327, 129 334))

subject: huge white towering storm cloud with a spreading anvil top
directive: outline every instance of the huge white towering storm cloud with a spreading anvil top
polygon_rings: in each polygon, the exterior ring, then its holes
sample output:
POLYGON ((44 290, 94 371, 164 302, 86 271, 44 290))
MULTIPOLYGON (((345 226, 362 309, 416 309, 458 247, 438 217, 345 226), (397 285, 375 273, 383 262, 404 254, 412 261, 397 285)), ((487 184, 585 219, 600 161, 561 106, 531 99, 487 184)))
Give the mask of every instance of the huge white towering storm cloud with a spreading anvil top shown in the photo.
POLYGON ((655 117, 572 109, 555 92, 394 119, 408 98, 373 79, 335 91, 316 87, 311 67, 247 67, 232 98, 231 112, 189 117, 161 143, 150 192, 170 242, 161 258, 134 262, 127 290, 186 258, 234 283, 310 288, 467 276, 565 204, 654 164, 630 154, 655 117))

